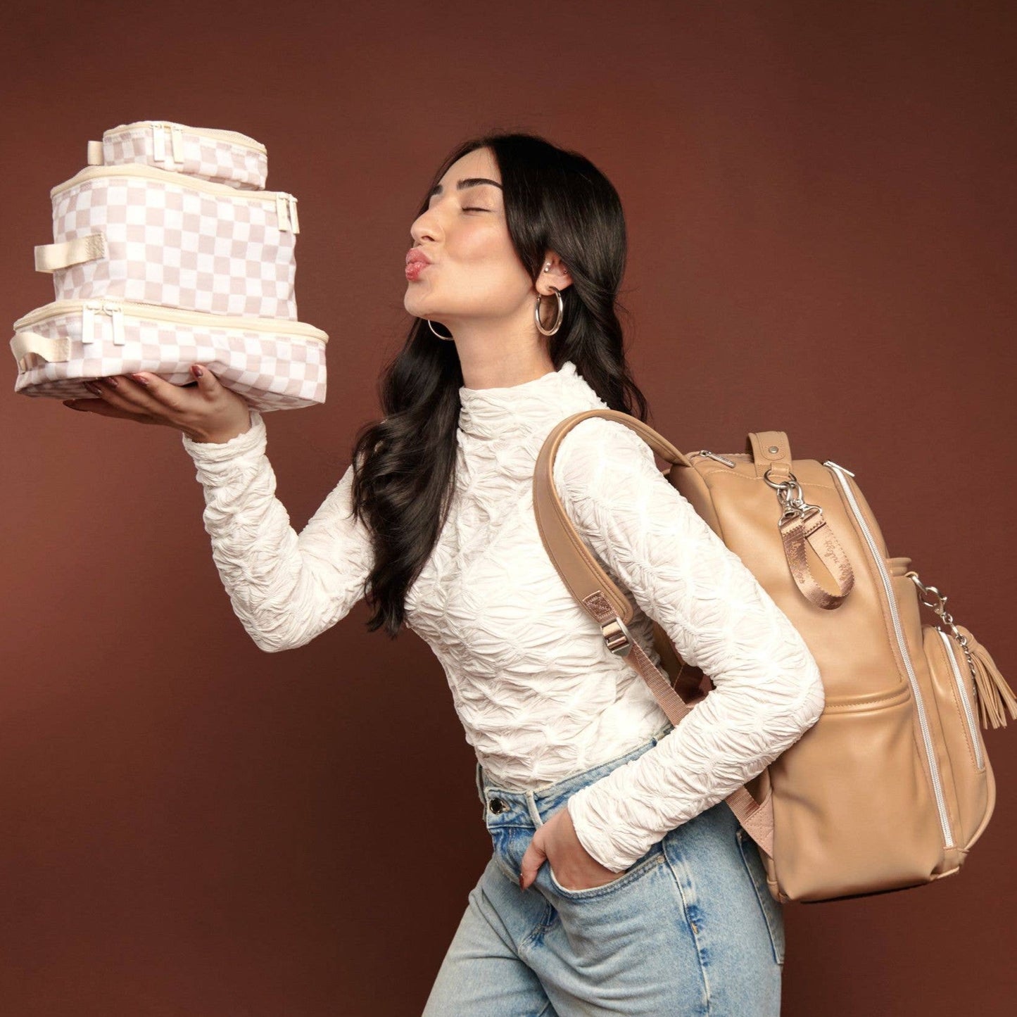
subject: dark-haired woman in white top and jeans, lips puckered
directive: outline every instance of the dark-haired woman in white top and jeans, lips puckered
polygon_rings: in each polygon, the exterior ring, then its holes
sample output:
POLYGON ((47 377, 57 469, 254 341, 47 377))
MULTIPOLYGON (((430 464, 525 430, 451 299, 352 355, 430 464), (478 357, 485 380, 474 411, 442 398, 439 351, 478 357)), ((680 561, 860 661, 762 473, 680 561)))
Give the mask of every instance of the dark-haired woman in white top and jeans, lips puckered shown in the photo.
POLYGON ((714 690, 676 730, 548 560, 534 463, 561 419, 646 419, 616 316, 618 196, 529 134, 452 153, 411 227, 416 320, 383 376, 384 419, 298 535, 275 498, 259 413, 192 368, 71 401, 183 432, 213 555, 266 652, 365 597, 448 677, 477 756, 493 853, 425 1017, 779 1011, 784 930, 756 845, 723 798, 819 718, 815 660, 741 560, 617 421, 565 435, 554 482, 577 530, 714 690))

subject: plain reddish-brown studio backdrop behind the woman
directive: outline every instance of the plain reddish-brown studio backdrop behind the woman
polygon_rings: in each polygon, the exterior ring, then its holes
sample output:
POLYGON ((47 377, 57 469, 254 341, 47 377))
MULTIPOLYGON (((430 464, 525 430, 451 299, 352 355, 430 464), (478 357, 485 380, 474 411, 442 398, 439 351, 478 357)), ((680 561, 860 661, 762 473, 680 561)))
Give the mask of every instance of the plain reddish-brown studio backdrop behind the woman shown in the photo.
MULTIPOLYGON (((266 417, 299 528, 376 415, 434 166, 481 128, 543 132, 622 195, 654 425, 686 451, 784 429, 854 470, 890 553, 1015 680, 1012 10, 8 5, 0 312, 52 299, 32 248, 89 138, 170 119, 264 141, 301 200, 300 317, 331 335, 326 405, 266 417)), ((426 645, 368 634, 360 604, 261 653, 177 432, 0 414, 0 1009, 419 1013, 490 850, 426 645)), ((986 733, 999 800, 961 874, 785 908, 786 1014, 1012 1012, 1013 726, 986 733)))

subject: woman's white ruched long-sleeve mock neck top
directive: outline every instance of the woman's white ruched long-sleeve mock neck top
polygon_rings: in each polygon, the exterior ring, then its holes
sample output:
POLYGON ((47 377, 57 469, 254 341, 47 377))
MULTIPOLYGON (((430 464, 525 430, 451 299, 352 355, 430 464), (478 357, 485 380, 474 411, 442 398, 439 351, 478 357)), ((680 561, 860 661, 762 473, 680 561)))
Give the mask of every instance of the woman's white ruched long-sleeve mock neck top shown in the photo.
MULTIPOLYGON (((466 740, 490 781, 539 790, 624 755, 667 718, 606 647, 547 557, 533 470, 551 428, 605 408, 566 360, 507 387, 459 391, 455 494, 406 598, 406 624, 440 661, 466 740)), ((372 554, 350 514, 352 465, 298 534, 275 496, 261 415, 220 444, 182 435, 233 609, 262 650, 303 646, 363 596, 372 554)), ((657 619, 714 689, 653 749, 575 793, 583 846, 613 872, 757 776, 818 719, 824 691, 801 636, 741 559, 617 421, 562 439, 555 487, 578 532, 630 596, 654 663, 657 619)))

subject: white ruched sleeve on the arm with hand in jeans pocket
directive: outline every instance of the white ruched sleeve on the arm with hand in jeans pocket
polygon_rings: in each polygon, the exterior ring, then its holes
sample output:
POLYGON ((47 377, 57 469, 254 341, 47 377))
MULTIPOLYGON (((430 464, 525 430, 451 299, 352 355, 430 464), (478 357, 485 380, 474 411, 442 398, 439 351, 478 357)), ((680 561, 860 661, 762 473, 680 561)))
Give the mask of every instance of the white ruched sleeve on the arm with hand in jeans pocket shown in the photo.
POLYGON ((621 872, 761 773, 819 720, 825 695, 798 631, 633 430, 582 421, 554 481, 588 545, 715 686, 657 745, 569 799, 580 842, 621 872))

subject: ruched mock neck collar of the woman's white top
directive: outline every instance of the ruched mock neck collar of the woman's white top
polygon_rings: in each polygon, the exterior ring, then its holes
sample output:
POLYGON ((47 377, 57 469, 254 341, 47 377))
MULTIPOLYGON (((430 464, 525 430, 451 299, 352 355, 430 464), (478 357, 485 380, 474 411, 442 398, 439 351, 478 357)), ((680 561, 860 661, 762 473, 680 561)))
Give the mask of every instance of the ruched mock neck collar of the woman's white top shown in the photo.
POLYGON ((565 360, 522 384, 459 390, 459 429, 474 438, 499 438, 530 431, 547 432, 558 421, 583 410, 606 408, 587 380, 565 360))

